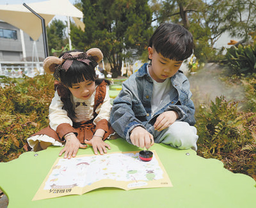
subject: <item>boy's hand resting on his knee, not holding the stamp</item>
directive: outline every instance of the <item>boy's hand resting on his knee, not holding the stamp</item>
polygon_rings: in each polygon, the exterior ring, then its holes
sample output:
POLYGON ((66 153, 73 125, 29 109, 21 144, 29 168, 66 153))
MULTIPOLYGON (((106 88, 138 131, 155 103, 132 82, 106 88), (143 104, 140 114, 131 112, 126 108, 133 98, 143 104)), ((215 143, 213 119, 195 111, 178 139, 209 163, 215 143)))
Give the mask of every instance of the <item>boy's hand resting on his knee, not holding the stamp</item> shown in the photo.
POLYGON ((179 114, 176 111, 165 111, 157 117, 154 129, 156 131, 162 131, 167 127, 170 127, 170 125, 172 125, 178 118, 179 114))

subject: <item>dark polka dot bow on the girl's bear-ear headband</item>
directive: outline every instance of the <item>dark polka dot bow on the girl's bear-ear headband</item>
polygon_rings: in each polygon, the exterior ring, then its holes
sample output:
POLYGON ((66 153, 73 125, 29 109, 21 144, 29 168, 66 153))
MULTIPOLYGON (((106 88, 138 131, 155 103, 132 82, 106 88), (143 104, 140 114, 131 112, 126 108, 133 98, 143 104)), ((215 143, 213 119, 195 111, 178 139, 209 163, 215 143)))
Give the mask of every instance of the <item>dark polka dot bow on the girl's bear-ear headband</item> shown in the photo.
POLYGON ((98 63, 92 58, 92 56, 88 56, 86 52, 82 52, 80 54, 77 54, 75 56, 72 56, 70 53, 65 52, 62 56, 62 59, 65 60, 62 64, 58 65, 58 67, 55 68, 54 77, 58 79, 60 77, 60 71, 64 70, 67 72, 68 68, 72 65, 74 60, 81 61, 83 63, 86 63, 89 65, 92 63, 93 67, 96 67, 98 63))

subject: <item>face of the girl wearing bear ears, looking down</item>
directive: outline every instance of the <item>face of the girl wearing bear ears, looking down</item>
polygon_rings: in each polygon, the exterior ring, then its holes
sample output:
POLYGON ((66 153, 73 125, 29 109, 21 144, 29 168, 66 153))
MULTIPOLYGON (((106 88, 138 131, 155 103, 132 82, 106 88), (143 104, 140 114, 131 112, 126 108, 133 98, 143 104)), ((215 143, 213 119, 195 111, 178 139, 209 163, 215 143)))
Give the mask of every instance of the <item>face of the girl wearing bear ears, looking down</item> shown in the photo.
POLYGON ((72 88, 68 87, 68 90, 78 99, 88 100, 95 90, 95 82, 84 79, 81 83, 73 84, 72 88))

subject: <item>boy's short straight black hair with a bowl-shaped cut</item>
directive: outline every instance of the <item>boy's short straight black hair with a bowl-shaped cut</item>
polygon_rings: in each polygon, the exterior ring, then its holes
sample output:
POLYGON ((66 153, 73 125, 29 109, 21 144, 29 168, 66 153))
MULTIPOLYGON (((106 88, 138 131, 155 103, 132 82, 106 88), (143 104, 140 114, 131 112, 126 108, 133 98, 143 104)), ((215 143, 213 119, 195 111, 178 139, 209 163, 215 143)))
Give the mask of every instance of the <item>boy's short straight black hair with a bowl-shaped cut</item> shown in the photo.
POLYGON ((193 52, 193 36, 179 24, 161 24, 151 36, 148 47, 154 47, 164 58, 183 61, 193 52))

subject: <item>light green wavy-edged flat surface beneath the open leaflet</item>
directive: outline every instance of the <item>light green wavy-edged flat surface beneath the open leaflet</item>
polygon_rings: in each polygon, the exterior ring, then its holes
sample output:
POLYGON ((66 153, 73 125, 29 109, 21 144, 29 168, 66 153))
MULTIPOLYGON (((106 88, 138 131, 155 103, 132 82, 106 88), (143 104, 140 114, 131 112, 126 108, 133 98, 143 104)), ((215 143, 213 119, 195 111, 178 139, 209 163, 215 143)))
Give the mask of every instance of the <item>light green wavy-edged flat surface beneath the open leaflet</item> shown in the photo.
MULTIPOLYGON (((106 141, 108 152, 138 151, 122 138, 106 141)), ((172 188, 133 189, 99 188, 84 195, 62 196, 31 201, 58 157, 60 147, 26 152, 19 159, 0 163, 0 189, 9 198, 12 207, 255 207, 255 180, 223 168, 216 159, 196 156, 193 150, 177 150, 164 144, 155 144, 172 188)), ((79 149, 78 155, 93 154, 92 148, 79 149)))

